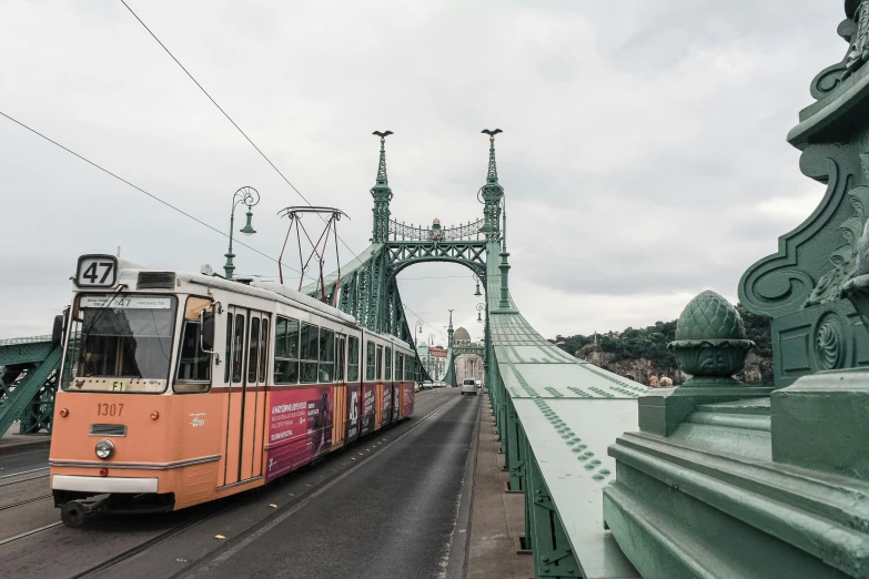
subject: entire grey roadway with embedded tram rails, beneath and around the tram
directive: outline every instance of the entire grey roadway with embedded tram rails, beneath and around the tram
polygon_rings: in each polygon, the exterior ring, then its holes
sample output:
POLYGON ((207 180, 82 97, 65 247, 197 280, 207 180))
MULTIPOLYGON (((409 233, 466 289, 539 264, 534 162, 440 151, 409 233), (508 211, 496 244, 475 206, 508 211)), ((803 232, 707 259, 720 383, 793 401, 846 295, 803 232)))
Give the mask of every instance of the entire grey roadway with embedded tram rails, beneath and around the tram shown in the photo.
MULTIPOLYGON (((98 515, 79 529, 59 526, 41 498, 47 471, 0 479, 40 477, 0 488, 0 536, 48 526, 0 540, 0 577, 461 576, 478 407, 457 389, 420 393, 411 419, 259 490, 168 515, 98 515), (2 508, 20 499, 34 500, 2 508)), ((0 466, 46 467, 46 455, 0 466)))

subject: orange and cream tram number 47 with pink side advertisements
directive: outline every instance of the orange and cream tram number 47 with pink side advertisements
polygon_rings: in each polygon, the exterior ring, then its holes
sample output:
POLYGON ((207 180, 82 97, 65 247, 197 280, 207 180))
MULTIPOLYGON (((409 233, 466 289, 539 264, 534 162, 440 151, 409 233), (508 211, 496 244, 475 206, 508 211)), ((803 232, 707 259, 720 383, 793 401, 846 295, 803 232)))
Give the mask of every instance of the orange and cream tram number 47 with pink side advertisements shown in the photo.
POLYGON ((61 519, 267 484, 413 414, 394 336, 273 282, 79 258, 49 465, 61 519))

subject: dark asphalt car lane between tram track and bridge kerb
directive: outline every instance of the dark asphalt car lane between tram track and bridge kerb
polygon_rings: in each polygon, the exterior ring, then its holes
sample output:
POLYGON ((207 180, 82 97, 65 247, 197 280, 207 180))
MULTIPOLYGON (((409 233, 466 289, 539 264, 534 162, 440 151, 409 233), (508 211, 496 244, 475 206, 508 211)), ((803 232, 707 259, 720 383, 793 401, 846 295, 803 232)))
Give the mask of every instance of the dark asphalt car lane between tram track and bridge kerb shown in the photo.
POLYGON ((314 500, 229 547, 188 578, 443 577, 478 398, 422 420, 314 500))

